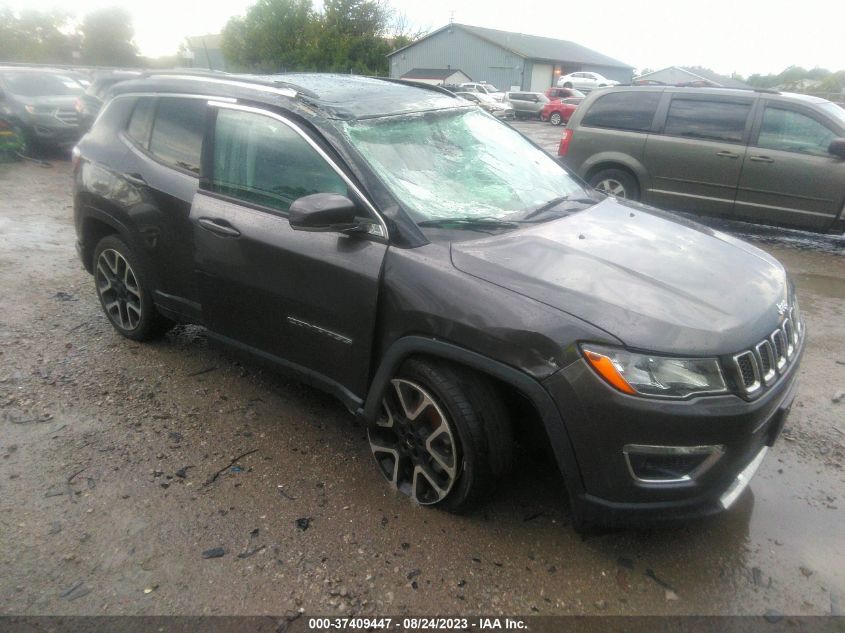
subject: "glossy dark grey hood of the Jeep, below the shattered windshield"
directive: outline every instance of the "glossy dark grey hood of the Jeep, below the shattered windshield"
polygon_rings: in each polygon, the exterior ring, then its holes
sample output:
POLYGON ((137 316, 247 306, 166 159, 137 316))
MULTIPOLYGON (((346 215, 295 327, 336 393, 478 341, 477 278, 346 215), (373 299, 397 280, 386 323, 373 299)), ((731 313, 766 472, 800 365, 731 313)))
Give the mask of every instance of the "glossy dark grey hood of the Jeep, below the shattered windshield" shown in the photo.
POLYGON ((783 266, 694 222, 608 198, 568 217, 455 242, 459 270, 588 321, 629 347, 729 354, 774 330, 783 266))

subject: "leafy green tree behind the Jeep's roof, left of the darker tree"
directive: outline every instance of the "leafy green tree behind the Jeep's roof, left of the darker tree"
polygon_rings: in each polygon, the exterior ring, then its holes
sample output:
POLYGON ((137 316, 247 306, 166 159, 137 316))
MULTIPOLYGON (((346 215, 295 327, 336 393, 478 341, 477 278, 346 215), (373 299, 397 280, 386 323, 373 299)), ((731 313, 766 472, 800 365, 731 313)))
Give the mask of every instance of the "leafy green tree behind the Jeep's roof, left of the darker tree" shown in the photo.
POLYGON ((308 70, 315 29, 311 0, 258 0, 245 16, 226 24, 223 54, 248 70, 308 70))

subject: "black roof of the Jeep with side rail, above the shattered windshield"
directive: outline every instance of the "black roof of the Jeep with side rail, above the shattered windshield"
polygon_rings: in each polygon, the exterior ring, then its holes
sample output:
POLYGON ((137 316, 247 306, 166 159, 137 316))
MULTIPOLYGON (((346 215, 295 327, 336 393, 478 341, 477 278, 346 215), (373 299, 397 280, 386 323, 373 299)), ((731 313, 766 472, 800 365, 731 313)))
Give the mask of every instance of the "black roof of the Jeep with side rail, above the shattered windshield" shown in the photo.
POLYGON ((426 84, 393 79, 321 73, 235 75, 228 73, 150 73, 114 86, 132 92, 202 93, 287 105, 291 100, 324 116, 359 119, 462 107, 451 93, 426 84))

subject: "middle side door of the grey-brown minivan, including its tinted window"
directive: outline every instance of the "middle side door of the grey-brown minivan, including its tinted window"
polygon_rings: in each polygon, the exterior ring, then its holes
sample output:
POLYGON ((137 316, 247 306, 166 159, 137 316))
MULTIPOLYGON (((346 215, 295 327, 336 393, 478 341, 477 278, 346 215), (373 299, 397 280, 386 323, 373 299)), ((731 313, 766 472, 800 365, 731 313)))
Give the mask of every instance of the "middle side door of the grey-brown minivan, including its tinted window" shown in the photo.
POLYGON ((730 215, 755 97, 667 93, 663 124, 646 141, 646 200, 665 209, 730 215))

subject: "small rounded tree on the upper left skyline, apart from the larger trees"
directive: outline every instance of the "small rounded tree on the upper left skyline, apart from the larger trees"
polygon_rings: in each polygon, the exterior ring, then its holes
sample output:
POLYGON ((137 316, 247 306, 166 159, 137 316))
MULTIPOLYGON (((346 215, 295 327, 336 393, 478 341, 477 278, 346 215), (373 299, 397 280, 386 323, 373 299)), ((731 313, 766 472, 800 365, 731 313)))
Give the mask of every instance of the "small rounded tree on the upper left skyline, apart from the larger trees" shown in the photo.
POLYGON ((79 27, 81 55, 86 64, 135 66, 138 49, 132 42, 135 31, 126 9, 109 7, 87 14, 79 27))

